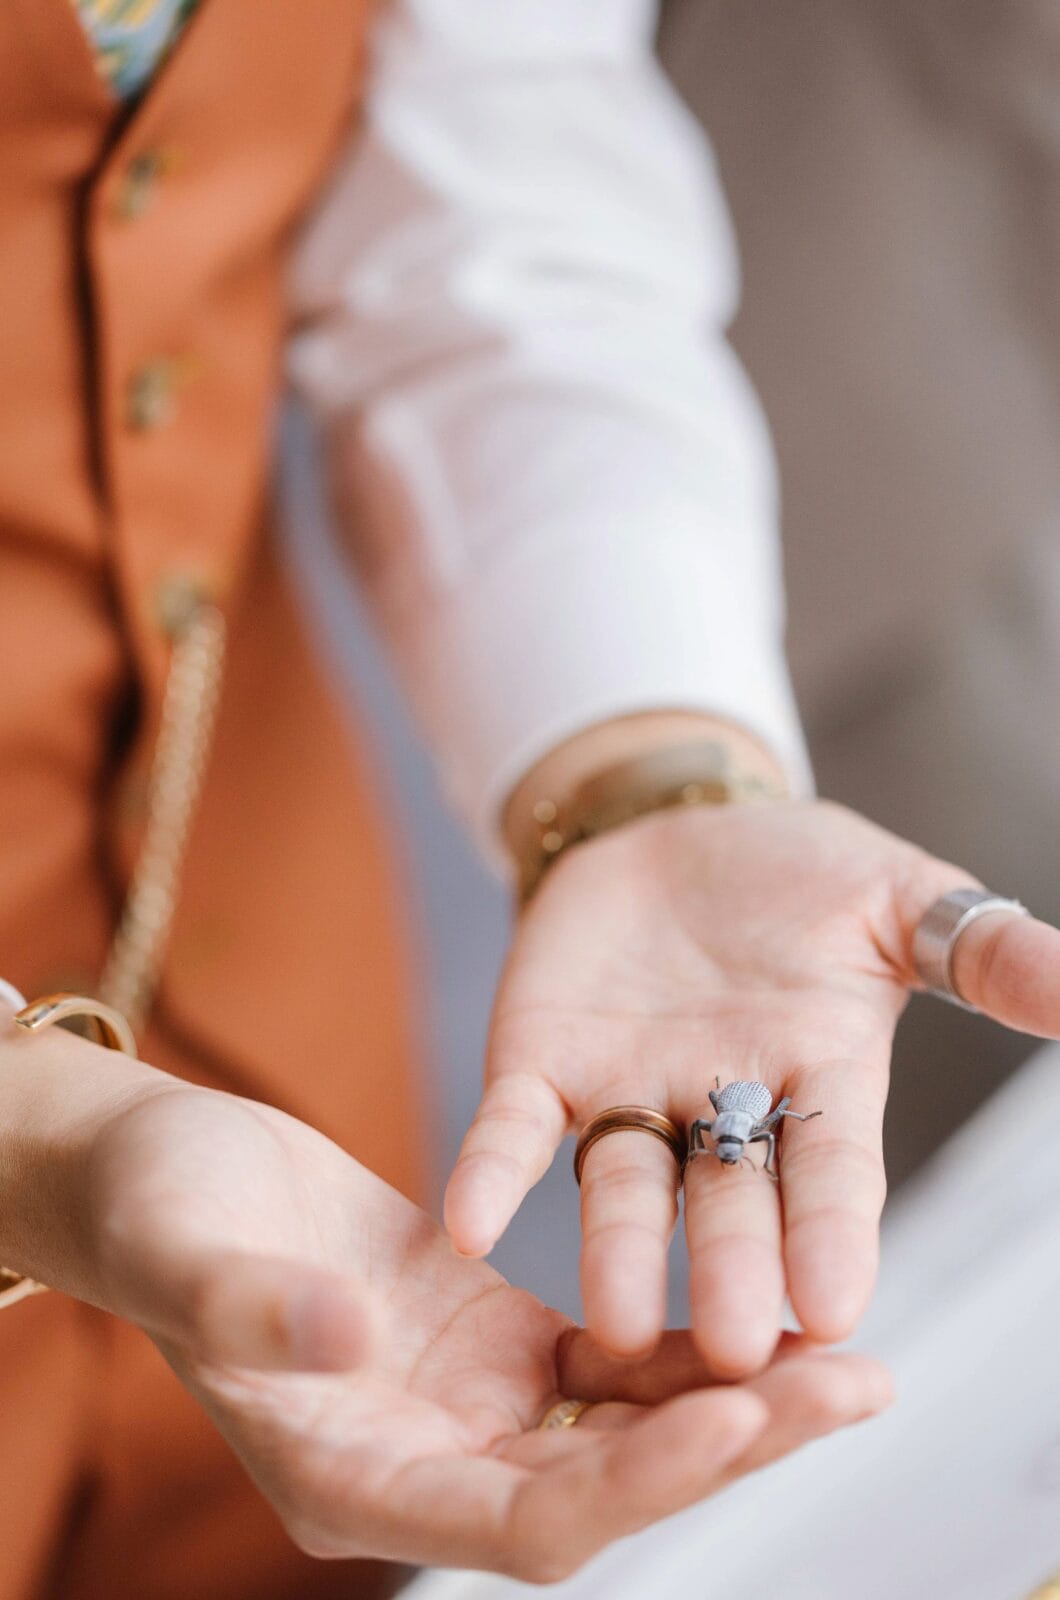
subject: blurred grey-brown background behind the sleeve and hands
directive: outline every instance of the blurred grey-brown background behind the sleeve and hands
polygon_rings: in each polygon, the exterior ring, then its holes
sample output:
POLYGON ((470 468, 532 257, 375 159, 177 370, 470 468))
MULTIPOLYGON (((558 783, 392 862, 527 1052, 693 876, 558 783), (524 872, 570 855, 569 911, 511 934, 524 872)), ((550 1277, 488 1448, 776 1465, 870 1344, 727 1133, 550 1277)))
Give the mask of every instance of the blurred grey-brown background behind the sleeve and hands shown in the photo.
MULTIPOLYGON (((1060 0, 668 0, 661 48, 741 245, 735 342, 781 461, 820 789, 1060 922, 1060 0)), ((405 822, 444 1173, 479 1093, 508 904, 351 613, 296 414, 285 458, 293 558, 405 822)), ((892 1179, 1030 1048, 916 1000, 892 1179)), ((567 1152, 493 1259, 576 1312, 567 1152)), ((681 1317, 679 1245, 673 1259, 681 1317)))

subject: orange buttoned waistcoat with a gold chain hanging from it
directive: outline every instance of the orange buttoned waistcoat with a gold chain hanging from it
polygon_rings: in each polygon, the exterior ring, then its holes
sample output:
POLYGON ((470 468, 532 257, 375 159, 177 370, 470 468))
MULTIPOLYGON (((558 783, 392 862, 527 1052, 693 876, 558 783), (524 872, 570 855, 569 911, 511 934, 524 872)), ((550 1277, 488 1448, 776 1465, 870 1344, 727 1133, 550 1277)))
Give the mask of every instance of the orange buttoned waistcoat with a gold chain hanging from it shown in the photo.
POLYGON ((287 246, 365 11, 207 0, 126 115, 69 0, 0 5, 0 971, 101 970, 191 578, 231 651, 155 1032, 415 1190, 379 798, 267 539, 287 246))

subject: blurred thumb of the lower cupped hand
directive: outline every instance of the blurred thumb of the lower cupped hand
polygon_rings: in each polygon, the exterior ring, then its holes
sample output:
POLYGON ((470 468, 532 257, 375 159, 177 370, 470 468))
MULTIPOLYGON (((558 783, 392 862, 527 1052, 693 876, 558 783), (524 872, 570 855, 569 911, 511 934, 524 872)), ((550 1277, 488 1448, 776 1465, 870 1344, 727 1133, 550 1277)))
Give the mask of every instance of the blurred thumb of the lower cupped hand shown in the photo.
POLYGON ((296 1261, 216 1253, 151 1262, 118 1294, 131 1320, 203 1366, 349 1371, 379 1344, 371 1291, 296 1261))

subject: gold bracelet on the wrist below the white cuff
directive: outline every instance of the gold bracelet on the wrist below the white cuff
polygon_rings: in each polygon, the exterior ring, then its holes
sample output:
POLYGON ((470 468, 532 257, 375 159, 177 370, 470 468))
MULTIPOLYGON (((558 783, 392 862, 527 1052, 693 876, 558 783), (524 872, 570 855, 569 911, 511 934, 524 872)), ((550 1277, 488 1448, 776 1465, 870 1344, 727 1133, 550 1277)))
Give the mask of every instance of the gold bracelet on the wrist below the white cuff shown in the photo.
POLYGON ((519 904, 527 904, 564 851, 637 816, 682 805, 788 798, 789 790, 777 779, 733 768, 721 739, 693 739, 634 755, 586 779, 564 803, 548 797, 535 803, 536 837, 519 862, 519 904))

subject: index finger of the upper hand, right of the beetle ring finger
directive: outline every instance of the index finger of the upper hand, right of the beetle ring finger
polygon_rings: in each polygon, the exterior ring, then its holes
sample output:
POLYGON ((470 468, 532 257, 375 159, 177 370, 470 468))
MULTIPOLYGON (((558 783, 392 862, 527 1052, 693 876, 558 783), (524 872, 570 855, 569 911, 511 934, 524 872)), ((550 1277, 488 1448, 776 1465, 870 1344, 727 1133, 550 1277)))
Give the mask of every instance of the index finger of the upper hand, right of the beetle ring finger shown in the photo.
POLYGON ((885 1051, 801 1069, 786 1090, 793 1110, 823 1112, 786 1118, 780 1138, 788 1293, 805 1331, 834 1342, 853 1333, 876 1283, 885 1051))

